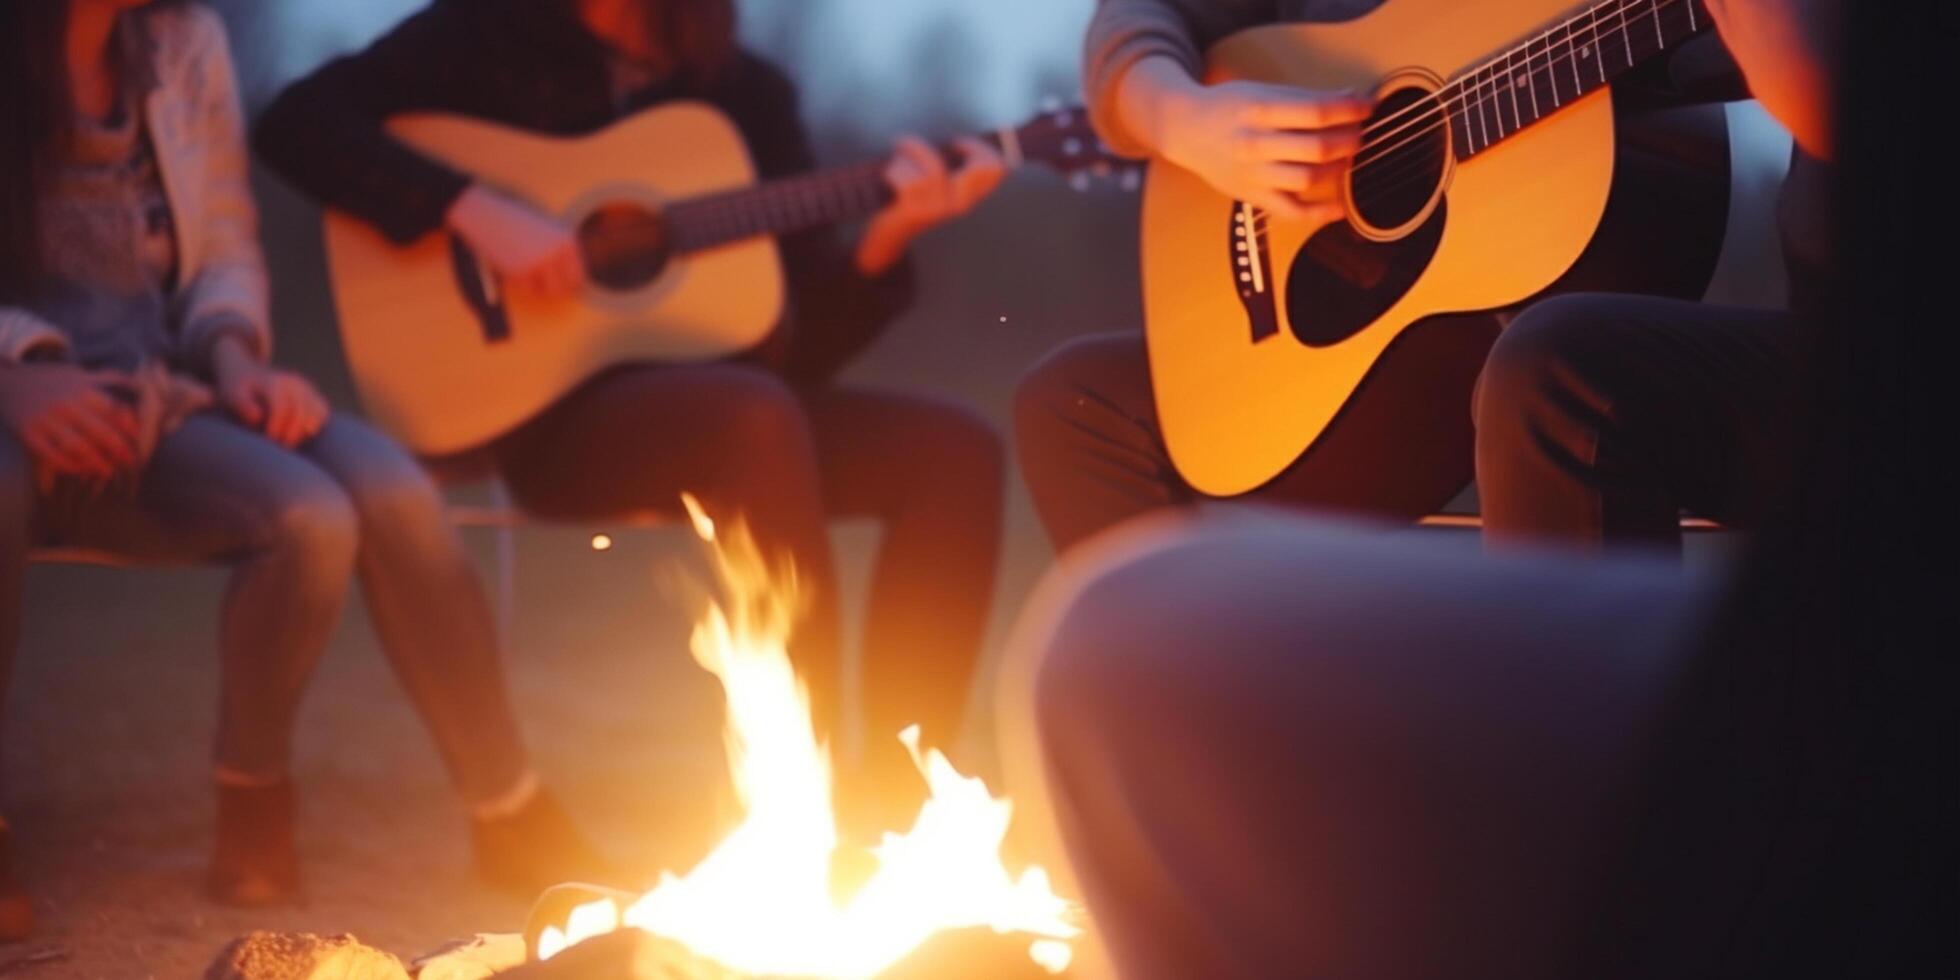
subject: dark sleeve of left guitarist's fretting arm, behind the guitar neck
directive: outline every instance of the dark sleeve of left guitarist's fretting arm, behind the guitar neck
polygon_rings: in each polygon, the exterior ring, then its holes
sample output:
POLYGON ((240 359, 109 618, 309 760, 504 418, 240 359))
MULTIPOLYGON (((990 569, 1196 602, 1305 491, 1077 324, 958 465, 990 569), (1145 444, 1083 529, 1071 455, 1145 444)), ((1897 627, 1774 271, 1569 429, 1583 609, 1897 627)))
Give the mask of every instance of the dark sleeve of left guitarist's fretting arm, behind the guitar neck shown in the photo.
MULTIPOLYGON (((798 110, 796 86, 751 55, 743 55, 733 73, 725 104, 749 139, 762 180, 813 171, 817 159, 798 110)), ((784 374, 798 384, 821 384, 835 376, 913 300, 909 261, 866 278, 831 229, 786 235, 782 265, 796 319, 786 341, 784 374)))

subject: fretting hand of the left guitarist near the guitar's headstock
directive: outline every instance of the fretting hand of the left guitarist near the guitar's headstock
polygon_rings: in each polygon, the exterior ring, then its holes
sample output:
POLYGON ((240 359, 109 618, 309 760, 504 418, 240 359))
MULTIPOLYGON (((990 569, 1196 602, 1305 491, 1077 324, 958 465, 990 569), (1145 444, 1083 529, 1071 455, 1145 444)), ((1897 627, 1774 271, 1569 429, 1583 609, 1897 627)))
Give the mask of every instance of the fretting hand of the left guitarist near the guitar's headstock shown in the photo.
POLYGON ((864 229, 857 253, 860 272, 874 276, 898 265, 911 239, 974 210, 1007 176, 1007 163, 994 147, 978 139, 960 139, 955 147, 960 153, 956 169, 947 167, 923 139, 898 141, 892 163, 884 169, 892 204, 864 229))

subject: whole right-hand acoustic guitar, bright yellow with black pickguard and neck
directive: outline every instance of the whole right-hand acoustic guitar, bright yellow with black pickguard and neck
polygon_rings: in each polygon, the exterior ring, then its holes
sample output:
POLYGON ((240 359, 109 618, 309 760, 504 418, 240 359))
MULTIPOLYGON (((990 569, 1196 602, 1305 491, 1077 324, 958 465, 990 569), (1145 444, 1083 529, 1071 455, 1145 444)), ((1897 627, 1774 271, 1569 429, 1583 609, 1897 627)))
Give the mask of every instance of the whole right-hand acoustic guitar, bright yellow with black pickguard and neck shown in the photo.
POLYGON ((1188 171, 1151 167, 1145 333, 1180 474, 1213 496, 1266 484, 1403 329, 1558 280, 1613 184, 1609 84, 1707 27, 1699 0, 1392 0, 1215 45, 1211 82, 1358 88, 1376 108, 1345 221, 1268 220, 1188 171))

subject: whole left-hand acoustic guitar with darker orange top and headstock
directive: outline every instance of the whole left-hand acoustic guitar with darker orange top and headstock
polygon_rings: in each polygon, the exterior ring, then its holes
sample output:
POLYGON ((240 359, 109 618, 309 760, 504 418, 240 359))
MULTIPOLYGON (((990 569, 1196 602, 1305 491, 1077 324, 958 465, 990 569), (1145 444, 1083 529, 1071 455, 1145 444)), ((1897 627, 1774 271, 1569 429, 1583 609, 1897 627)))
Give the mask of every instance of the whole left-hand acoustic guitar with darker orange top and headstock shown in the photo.
MULTIPOLYGON (((888 161, 757 182, 735 123, 698 102, 580 139, 441 114, 402 116, 388 131, 559 216, 576 231, 590 278, 561 300, 504 292, 455 235, 402 247, 359 218, 325 216, 363 404, 421 455, 496 439, 608 367, 753 349, 784 316, 776 235, 870 216, 890 200, 888 161)), ((1011 167, 1041 163, 1078 182, 1125 165, 1076 108, 982 139, 1011 167)))

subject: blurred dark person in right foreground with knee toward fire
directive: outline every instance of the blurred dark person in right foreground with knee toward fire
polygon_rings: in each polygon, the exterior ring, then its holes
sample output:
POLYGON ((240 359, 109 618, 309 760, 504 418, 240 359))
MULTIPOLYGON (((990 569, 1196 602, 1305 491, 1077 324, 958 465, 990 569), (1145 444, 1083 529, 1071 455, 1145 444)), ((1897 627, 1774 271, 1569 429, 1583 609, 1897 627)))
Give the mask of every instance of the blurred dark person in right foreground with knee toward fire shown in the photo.
MULTIPOLYGON (((1809 457, 1729 582, 1299 519, 1131 543, 1062 602, 1035 711, 1135 978, 1913 976, 1946 956, 1952 206, 1940 4, 1711 2, 1842 145, 1809 457), (1829 82, 1852 39, 1844 135, 1829 82), (1835 276, 1837 278, 1837 276, 1835 276), (1933 515, 1929 519, 1929 514, 1933 515)), ((1103 547, 1117 547, 1105 543, 1103 547)))

